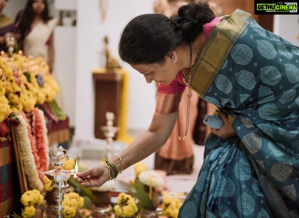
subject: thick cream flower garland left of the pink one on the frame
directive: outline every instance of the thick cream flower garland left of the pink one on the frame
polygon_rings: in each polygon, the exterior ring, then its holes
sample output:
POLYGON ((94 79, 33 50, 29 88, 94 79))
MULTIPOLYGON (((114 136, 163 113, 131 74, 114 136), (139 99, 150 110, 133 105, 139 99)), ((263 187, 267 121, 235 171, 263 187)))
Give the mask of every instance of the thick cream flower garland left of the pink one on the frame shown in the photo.
POLYGON ((24 112, 20 112, 16 118, 20 121, 19 125, 16 126, 16 132, 28 184, 32 189, 37 189, 42 192, 44 187, 42 181, 39 179, 39 157, 35 147, 32 146, 33 137, 31 127, 28 124, 24 112))

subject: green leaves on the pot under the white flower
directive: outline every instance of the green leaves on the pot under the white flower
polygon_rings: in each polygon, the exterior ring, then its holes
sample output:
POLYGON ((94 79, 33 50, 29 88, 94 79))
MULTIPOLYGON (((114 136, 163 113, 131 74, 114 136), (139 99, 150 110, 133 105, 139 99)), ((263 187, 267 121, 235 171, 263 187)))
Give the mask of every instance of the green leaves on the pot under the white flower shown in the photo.
POLYGON ((136 182, 131 182, 135 187, 136 192, 129 191, 135 198, 140 201, 140 205, 146 209, 154 209, 152 200, 149 198, 149 194, 144 191, 144 185, 136 178, 136 182))

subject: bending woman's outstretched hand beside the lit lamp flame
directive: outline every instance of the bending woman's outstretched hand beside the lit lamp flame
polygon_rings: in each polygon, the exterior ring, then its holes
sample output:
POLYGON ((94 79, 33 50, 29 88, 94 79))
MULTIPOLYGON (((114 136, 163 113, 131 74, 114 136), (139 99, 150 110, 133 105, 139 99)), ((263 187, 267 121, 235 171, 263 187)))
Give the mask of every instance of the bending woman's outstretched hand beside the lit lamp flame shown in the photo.
POLYGON ((109 180, 109 171, 105 164, 77 173, 76 179, 85 187, 100 187, 109 180))

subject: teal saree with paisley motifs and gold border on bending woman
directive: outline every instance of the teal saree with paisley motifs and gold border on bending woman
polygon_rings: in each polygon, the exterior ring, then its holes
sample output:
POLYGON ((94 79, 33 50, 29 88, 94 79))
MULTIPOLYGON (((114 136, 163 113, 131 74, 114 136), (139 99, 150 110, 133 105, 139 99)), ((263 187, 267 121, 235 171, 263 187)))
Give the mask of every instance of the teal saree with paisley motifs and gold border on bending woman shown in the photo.
POLYGON ((192 89, 228 114, 179 217, 299 217, 299 48, 236 10, 210 33, 192 89))

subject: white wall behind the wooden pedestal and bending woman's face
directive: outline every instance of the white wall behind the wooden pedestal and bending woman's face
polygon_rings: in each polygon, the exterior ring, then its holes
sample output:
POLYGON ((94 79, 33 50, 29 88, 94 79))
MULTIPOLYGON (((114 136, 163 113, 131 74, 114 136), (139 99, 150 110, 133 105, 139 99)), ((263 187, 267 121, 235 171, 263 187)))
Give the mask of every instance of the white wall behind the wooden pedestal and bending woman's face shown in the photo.
MULTIPOLYGON (((92 69, 104 67, 104 36, 109 37, 112 55, 118 58, 118 41, 125 25, 137 15, 152 13, 153 0, 106 0, 106 20, 100 23, 98 0, 77 1, 77 71, 76 71, 76 135, 94 137, 94 84, 92 69)), ((128 126, 144 129, 155 110, 154 84, 129 65, 121 63, 130 74, 128 126)))

